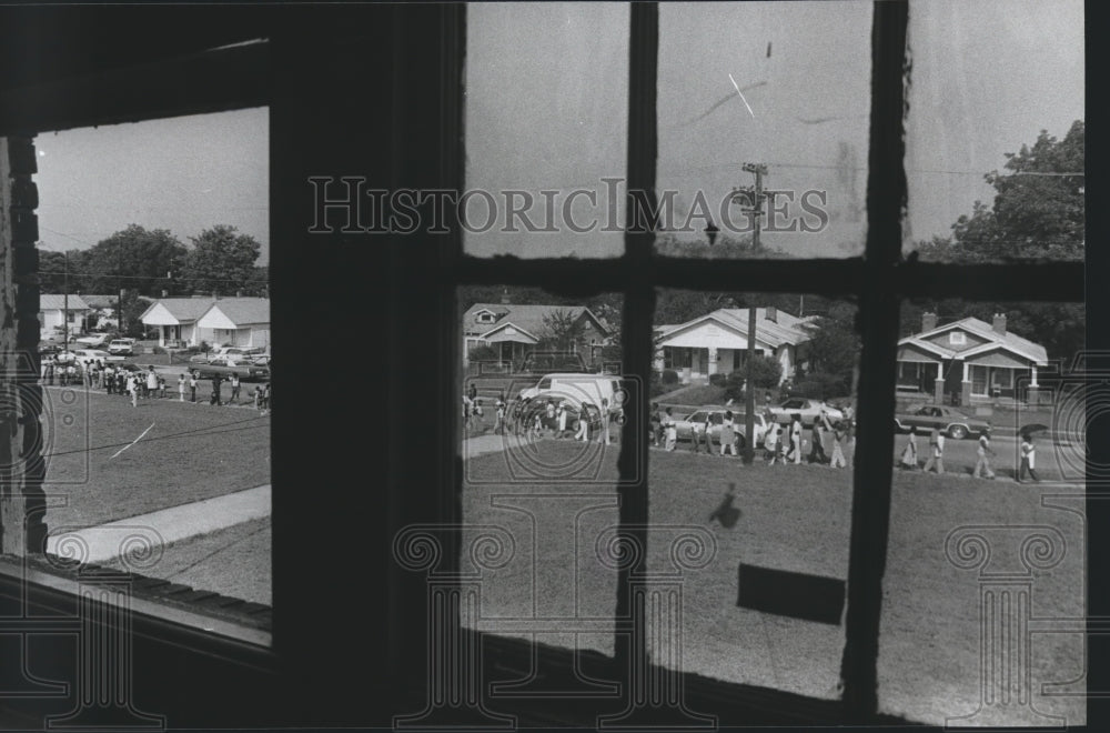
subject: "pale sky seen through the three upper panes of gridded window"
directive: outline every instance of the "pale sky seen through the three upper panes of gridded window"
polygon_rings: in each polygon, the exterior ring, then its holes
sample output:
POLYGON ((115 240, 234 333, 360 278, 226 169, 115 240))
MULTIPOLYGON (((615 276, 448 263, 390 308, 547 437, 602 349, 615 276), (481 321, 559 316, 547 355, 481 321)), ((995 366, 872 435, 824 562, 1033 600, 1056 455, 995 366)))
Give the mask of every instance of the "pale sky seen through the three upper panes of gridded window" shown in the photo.
MULTIPOLYGON (((870 2, 854 0, 660 4, 657 182, 659 195, 676 192, 678 225, 699 191, 719 224, 729 192, 754 182, 743 164, 763 162, 766 188, 796 200, 824 191, 828 218, 818 232, 765 231, 764 243, 801 257, 862 252, 871 13, 870 2)), ((907 249, 947 235, 976 199, 990 201, 982 177, 1002 169, 1005 153, 1041 129, 1062 138, 1084 116, 1081 2, 930 0, 911 2, 910 18, 907 249)), ((467 22, 467 188, 529 190, 541 224, 538 191, 564 200, 593 188, 597 205, 579 198, 572 213, 604 224, 609 189, 601 180, 626 168, 627 6, 482 3, 467 22)), ((475 227, 486 208, 474 208, 475 227)), ((779 227, 791 221, 819 223, 787 207, 779 227)), ((692 223, 686 237, 704 241, 704 221, 692 223)), ((556 228, 495 227, 465 241, 476 254, 623 251, 617 232, 556 228)))

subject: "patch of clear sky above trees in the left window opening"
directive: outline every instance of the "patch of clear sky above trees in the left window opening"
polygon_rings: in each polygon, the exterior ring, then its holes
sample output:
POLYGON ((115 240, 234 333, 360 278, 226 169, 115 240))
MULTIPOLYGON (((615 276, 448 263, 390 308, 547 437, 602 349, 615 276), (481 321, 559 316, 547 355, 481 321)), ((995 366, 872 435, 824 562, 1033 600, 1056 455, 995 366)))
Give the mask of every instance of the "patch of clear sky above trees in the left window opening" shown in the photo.
POLYGON ((270 261, 265 108, 44 132, 36 149, 43 250, 87 249, 131 223, 184 244, 231 224, 270 261))

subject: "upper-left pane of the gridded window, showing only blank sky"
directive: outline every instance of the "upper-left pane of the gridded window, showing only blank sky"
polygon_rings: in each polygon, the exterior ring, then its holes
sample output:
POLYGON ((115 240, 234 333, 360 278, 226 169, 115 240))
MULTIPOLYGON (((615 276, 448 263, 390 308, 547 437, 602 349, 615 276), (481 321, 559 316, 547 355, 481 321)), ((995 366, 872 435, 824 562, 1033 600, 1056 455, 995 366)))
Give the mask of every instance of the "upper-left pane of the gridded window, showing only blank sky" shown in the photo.
POLYGON ((628 28, 624 3, 467 7, 467 253, 624 253, 628 28))

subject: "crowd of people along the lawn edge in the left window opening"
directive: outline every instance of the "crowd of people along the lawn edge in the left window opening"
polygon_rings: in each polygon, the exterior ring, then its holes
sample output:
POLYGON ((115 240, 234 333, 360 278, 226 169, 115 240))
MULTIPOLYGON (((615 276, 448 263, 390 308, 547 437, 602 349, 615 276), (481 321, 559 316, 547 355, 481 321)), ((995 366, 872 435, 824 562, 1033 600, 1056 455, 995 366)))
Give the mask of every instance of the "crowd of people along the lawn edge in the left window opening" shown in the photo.
MULTIPOLYGON (((104 362, 101 360, 79 360, 73 359, 68 362, 59 362, 54 359, 43 359, 41 368, 43 385, 53 386, 84 386, 89 390, 103 390, 107 394, 127 396, 131 400, 131 405, 138 408, 139 400, 167 399, 165 376, 154 371, 150 365, 147 370, 129 368, 115 362, 104 362)), ((196 402, 199 373, 196 370, 189 370, 188 373, 178 374, 178 400, 196 402)), ((223 406, 224 404, 242 404, 240 396, 242 382, 239 374, 232 373, 228 379, 219 374, 212 376, 212 391, 209 404, 223 406), (231 394, 226 402, 223 400, 223 383, 228 382, 231 394)), ((252 394, 254 409, 262 414, 270 414, 271 408, 271 385, 269 382, 258 384, 252 394)))

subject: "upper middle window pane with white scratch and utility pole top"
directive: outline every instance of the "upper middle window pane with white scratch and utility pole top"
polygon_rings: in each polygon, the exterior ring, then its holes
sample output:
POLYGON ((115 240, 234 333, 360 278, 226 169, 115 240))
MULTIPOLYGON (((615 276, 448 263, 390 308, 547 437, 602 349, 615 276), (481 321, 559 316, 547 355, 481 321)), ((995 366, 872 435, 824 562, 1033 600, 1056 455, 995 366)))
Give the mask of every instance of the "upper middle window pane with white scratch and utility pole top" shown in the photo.
POLYGON ((659 253, 862 253, 870 34, 868 2, 659 7, 659 253))

